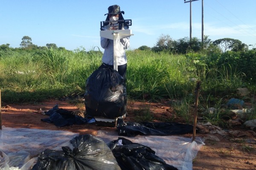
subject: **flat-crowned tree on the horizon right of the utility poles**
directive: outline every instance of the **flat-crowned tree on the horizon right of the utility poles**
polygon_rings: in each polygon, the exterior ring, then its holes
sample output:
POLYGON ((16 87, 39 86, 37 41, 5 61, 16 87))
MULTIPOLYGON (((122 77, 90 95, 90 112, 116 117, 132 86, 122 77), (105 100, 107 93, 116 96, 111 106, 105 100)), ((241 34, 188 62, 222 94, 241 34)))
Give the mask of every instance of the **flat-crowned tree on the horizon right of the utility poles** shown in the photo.
POLYGON ((226 52, 227 50, 231 51, 245 51, 248 49, 248 46, 242 43, 240 40, 236 40, 233 38, 222 38, 212 42, 214 45, 218 45, 218 47, 226 52))

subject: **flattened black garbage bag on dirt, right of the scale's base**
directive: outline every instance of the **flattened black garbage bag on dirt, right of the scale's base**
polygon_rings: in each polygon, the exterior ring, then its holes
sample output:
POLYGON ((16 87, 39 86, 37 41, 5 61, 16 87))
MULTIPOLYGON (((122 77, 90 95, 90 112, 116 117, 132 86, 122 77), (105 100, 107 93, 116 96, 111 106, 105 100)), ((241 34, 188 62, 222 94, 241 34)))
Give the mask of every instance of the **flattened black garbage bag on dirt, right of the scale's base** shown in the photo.
POLYGON ((193 133, 193 126, 175 122, 124 122, 122 119, 118 119, 117 130, 120 136, 181 135, 193 133))

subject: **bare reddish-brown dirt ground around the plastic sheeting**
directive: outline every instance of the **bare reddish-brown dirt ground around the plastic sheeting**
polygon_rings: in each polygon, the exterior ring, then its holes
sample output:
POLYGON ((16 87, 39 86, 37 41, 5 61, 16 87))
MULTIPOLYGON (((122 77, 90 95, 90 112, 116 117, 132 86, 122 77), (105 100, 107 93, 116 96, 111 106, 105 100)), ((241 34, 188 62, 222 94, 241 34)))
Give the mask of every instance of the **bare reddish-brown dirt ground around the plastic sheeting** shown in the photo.
MULTIPOLYGON (((52 100, 41 102, 34 105, 23 104, 2 104, 2 125, 5 127, 16 128, 33 128, 47 130, 67 130, 79 134, 95 135, 97 130, 114 131, 115 127, 106 127, 93 124, 72 125, 65 127, 56 127, 53 124, 41 121, 43 118, 48 118, 47 115, 41 114, 42 111, 48 111, 58 103, 59 108, 75 111, 82 108, 80 105, 72 104, 72 102, 52 100)), ((127 122, 136 122, 136 114, 142 108, 150 108, 150 112, 154 113, 154 117, 158 120, 167 119, 173 110, 170 106, 164 103, 149 103, 146 102, 128 102, 128 116, 125 118, 127 122)), ((242 129, 243 132, 248 132, 248 129, 242 129)), ((218 137, 220 141, 206 138, 209 134, 197 133, 196 136, 205 138, 205 145, 199 150, 196 158, 193 161, 193 170, 256 170, 256 136, 248 135, 253 132, 246 133, 239 137, 221 136, 219 134, 211 134, 218 137), (248 142, 249 141, 249 142, 248 142)), ((182 135, 184 137, 192 137, 192 134, 182 135)))

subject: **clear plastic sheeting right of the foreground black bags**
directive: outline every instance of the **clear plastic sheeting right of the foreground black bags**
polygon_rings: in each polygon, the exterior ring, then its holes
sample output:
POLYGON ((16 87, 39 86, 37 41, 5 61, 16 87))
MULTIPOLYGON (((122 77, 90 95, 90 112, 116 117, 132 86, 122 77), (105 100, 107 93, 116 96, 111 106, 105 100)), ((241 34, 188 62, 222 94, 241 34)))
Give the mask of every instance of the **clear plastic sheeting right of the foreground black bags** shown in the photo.
MULTIPOLYGON (((117 132, 99 130, 98 137, 109 143, 118 139, 117 132)), ((135 136, 124 137, 134 143, 143 144, 155 151, 155 155, 163 159, 166 164, 176 167, 178 170, 192 170, 192 160, 204 144, 204 139, 199 137, 192 139, 180 136, 135 136)))

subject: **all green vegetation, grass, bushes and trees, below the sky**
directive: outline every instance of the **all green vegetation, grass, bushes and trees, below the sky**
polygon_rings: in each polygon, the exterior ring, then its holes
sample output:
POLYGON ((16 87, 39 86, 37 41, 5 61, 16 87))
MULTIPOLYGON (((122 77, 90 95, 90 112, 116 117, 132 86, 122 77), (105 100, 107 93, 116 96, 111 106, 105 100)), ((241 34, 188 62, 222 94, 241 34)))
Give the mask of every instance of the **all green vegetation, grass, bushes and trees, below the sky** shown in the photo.
MULTIPOLYGON (((31 40, 24 36, 20 48, 0 45, 2 101, 40 102, 83 96, 87 78, 101 65, 102 52, 84 48, 68 51, 54 43, 38 47, 31 40)), ((127 51, 128 97, 179 100, 175 111, 189 123, 194 88, 200 81, 200 107, 217 107, 214 114, 204 117, 221 125, 224 112, 220 107, 225 99, 241 99, 237 88, 246 87, 251 95, 256 92, 256 49, 246 47, 239 40, 227 38, 212 42, 205 36, 202 44, 197 38, 176 41, 162 35, 153 48, 144 45, 127 51), (227 43, 224 51, 219 48, 221 43, 227 43)), ((252 103, 254 106, 255 101, 252 103)), ((149 110, 145 115, 145 119, 152 119, 149 110)), ((256 119, 255 110, 249 117, 256 119)))

